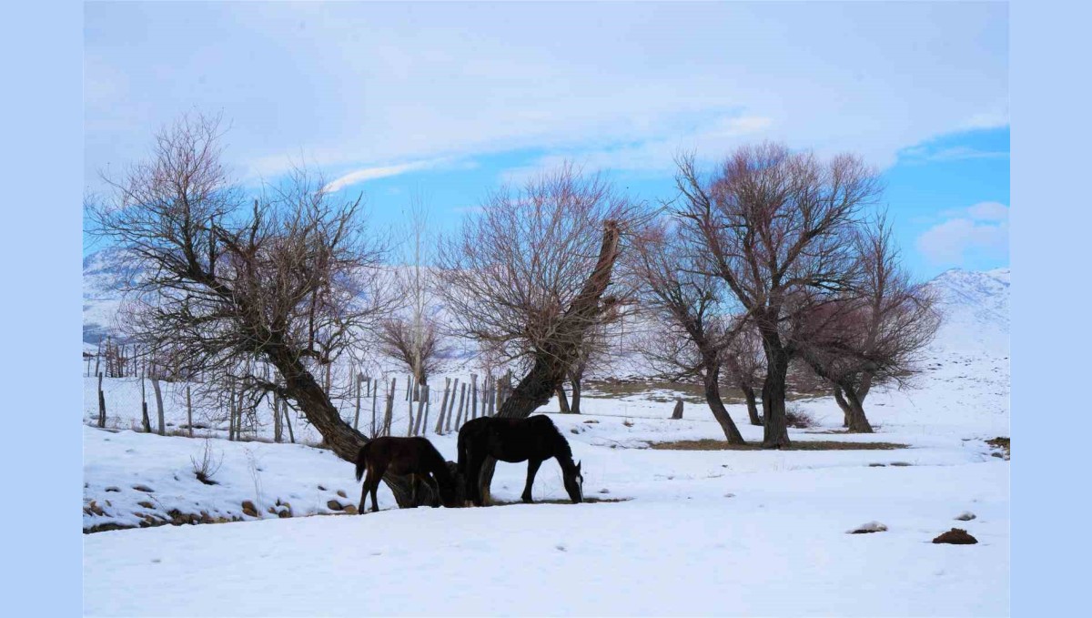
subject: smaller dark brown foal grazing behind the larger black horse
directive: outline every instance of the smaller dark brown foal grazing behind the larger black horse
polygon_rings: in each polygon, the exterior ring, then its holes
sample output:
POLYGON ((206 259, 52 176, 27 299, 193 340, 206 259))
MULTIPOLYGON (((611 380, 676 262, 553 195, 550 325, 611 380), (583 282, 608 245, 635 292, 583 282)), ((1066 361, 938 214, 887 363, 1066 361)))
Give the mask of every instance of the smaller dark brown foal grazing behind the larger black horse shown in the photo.
POLYGON ((360 480, 364 471, 368 478, 360 491, 360 507, 357 512, 364 514, 364 502, 368 491, 371 491, 371 510, 379 510, 376 503, 376 489, 388 472, 391 474, 413 476, 413 501, 417 503, 417 486, 422 480, 432 490, 432 507, 455 507, 455 478, 451 475, 448 462, 436 447, 425 438, 392 438, 384 436, 376 438, 360 447, 356 455, 356 479, 360 480), (431 475, 431 476, 429 476, 431 475))

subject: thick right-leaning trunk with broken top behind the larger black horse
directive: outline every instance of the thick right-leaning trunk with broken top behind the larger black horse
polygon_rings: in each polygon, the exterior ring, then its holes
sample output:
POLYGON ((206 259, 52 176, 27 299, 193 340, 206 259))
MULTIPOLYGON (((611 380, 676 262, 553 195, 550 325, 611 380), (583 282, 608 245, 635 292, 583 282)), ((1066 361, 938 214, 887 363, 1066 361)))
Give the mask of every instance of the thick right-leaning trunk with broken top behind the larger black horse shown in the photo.
MULTIPOLYGON (((593 324, 594 318, 600 313, 600 299, 607 286, 610 284, 610 273, 614 271, 615 262, 618 259, 618 224, 614 221, 605 222, 603 227, 603 243, 600 246, 600 255, 587 281, 581 287, 580 293, 573 299, 572 305, 561 317, 557 332, 558 337, 555 345, 549 345, 547 349, 535 355, 531 371, 520 380, 511 393, 508 394, 497 416, 502 418, 526 418, 531 414, 547 404, 558 385, 565 380, 566 372, 572 367, 573 349, 572 343, 577 343, 577 349, 582 342, 584 333, 593 324)), ((511 381, 509 381, 511 384, 511 381)), ((486 457, 485 465, 482 466, 482 474, 478 477, 480 496, 486 504, 490 501, 489 485, 492 482, 492 472, 497 466, 497 460, 486 457)))

